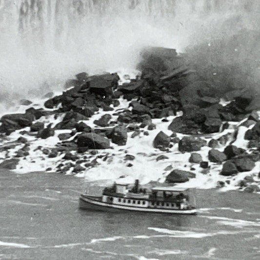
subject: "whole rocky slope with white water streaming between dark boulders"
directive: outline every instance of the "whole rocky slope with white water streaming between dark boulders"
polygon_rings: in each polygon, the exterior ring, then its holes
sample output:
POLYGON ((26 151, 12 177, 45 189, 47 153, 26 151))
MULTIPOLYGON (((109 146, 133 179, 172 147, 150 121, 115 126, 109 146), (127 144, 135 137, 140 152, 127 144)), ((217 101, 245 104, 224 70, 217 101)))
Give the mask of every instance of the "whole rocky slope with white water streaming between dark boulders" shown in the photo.
POLYGON ((258 93, 212 88, 173 49, 144 50, 138 69, 121 85, 80 73, 42 107, 21 100, 0 119, 0 167, 260 191, 258 93))

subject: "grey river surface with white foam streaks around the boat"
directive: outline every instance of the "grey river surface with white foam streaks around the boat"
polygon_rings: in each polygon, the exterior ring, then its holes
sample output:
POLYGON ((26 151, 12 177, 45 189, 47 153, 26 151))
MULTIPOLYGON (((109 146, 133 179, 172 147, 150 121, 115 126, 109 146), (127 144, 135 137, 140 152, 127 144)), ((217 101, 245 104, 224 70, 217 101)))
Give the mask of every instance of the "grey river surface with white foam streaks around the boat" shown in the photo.
POLYGON ((198 190, 198 216, 113 214, 78 208, 88 186, 1 170, 0 259, 260 259, 259 194, 198 190))

